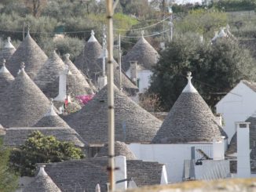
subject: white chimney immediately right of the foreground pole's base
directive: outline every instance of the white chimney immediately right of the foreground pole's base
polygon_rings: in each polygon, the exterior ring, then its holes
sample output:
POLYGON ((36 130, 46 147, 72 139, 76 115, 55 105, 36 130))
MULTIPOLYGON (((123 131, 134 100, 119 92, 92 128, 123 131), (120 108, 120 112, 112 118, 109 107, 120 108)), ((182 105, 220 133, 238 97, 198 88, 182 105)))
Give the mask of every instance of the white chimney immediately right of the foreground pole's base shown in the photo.
POLYGON ((126 157, 117 156, 115 157, 115 167, 118 168, 115 171, 115 188, 116 190, 127 189, 127 171, 126 171, 126 157))

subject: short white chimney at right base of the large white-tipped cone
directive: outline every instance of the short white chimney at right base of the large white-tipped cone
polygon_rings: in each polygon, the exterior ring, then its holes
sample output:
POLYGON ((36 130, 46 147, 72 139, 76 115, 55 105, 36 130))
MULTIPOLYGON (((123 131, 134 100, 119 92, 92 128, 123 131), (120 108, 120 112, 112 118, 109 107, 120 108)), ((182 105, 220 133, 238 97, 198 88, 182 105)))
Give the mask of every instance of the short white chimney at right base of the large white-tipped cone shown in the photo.
POLYGON ((213 159, 214 160, 224 160, 225 159, 225 136, 221 138, 214 139, 213 141, 213 159))

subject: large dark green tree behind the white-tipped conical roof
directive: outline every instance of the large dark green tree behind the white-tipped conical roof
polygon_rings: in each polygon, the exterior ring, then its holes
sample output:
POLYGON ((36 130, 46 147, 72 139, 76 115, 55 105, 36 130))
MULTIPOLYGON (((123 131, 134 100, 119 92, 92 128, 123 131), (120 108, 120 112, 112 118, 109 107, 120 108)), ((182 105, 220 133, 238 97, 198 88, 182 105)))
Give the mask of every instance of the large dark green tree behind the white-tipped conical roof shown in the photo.
POLYGON ((229 39, 214 45, 198 38, 176 38, 161 53, 149 92, 159 94, 165 110, 177 100, 187 84, 187 71, 204 100, 214 107, 220 93, 229 92, 241 79, 255 80, 255 60, 247 49, 229 39))

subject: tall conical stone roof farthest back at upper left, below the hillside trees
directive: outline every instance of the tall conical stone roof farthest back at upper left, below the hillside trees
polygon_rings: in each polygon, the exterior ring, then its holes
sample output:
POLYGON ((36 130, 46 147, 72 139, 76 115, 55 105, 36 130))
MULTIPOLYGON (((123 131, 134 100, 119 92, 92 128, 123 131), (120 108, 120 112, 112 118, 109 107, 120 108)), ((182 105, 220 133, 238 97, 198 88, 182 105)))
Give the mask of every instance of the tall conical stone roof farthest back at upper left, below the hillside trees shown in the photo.
POLYGON ((35 78, 35 74, 38 73, 39 69, 42 67, 43 63, 47 60, 46 54, 37 45, 29 31, 23 42, 20 43, 16 52, 7 61, 6 67, 9 69, 10 73, 16 77, 17 72, 20 69, 20 63, 26 63, 26 71, 31 79, 35 78))

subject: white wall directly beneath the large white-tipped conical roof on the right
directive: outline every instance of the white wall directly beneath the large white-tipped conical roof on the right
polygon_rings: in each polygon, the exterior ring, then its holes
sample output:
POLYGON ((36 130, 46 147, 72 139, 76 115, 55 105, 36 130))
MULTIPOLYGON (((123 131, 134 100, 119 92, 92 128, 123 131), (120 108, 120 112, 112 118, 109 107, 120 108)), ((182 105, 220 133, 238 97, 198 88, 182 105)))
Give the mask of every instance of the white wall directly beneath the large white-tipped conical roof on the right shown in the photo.
MULTIPOLYGON (((191 147, 202 149, 210 158, 212 157, 212 143, 188 144, 140 144, 131 143, 129 146, 133 154, 143 161, 158 161, 166 165, 169 183, 182 181, 184 160, 192 158, 191 147)), ((196 160, 201 158, 196 152, 196 160)))

